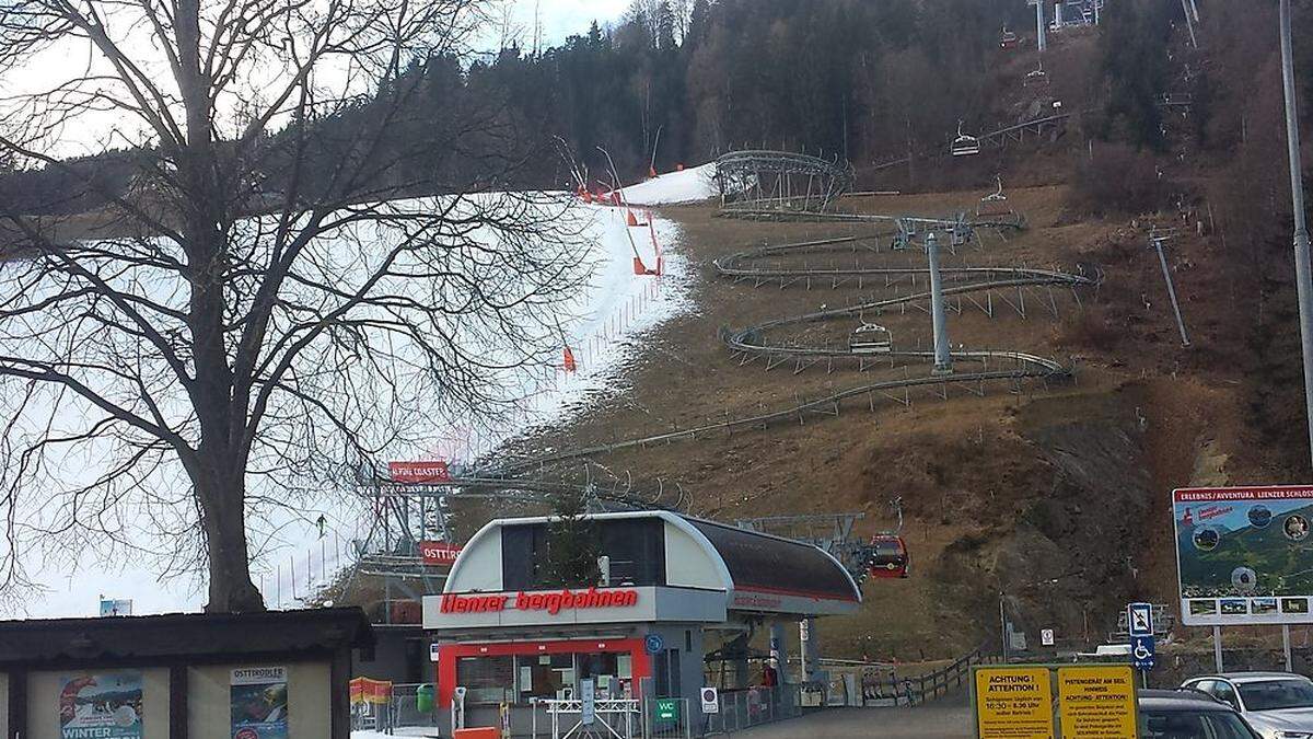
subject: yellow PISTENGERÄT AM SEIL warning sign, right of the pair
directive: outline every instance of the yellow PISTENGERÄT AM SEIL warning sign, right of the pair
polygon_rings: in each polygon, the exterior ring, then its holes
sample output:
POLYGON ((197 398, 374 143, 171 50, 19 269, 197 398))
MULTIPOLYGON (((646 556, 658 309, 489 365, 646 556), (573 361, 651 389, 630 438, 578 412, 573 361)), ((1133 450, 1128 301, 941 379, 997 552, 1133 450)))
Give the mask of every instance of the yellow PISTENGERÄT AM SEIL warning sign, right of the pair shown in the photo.
POLYGON ((1062 739, 1136 739, 1136 676, 1129 664, 1058 668, 1062 739))

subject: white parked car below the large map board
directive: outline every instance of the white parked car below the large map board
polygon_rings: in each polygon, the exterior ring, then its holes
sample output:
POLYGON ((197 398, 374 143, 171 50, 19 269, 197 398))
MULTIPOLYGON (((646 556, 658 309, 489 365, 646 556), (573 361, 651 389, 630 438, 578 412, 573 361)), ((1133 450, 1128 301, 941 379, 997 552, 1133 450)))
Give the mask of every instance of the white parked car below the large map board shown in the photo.
POLYGON ((1191 677, 1197 690, 1236 709, 1263 739, 1313 739, 1313 680, 1291 672, 1191 677))

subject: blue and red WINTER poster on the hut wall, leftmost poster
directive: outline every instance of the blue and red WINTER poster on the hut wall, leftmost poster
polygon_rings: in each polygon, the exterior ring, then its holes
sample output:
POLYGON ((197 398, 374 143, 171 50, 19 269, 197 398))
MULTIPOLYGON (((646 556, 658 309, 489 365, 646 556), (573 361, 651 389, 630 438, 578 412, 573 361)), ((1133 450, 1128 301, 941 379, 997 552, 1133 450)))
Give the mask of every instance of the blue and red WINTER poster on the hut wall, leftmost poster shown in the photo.
POLYGON ((142 673, 74 675, 59 681, 60 739, 142 739, 142 673))

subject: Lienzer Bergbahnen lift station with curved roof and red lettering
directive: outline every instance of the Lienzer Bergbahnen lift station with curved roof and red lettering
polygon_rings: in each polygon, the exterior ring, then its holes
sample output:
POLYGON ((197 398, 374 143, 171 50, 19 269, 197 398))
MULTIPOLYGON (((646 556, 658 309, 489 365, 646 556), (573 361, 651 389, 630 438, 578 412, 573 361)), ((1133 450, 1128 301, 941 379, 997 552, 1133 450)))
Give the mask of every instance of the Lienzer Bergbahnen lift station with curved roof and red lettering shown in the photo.
POLYGON ((670 512, 588 518, 599 586, 548 585, 548 518, 492 521, 465 546, 444 592, 423 602, 439 709, 461 688, 467 721, 490 725, 503 703, 578 697, 582 680, 601 696, 697 705, 709 651, 746 686, 752 634, 769 629, 779 646, 784 625, 861 602, 811 544, 670 512))

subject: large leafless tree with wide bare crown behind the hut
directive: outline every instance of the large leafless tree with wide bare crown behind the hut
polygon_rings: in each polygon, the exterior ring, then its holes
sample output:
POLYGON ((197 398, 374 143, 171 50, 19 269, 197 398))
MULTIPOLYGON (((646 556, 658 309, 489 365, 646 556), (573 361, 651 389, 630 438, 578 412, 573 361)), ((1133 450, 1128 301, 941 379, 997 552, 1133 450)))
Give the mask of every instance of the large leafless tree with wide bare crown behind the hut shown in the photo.
POLYGON ((481 0, 0 5, 25 91, 0 101, 20 126, 0 159, 138 162, 127 188, 81 183, 95 214, 0 203, 8 584, 24 552, 112 546, 207 571, 207 610, 263 609, 260 522, 441 418, 511 408, 582 271, 561 203, 492 193, 528 155, 512 121, 412 112, 425 64, 486 20, 481 0), (87 220, 110 235, 72 238, 87 220))

